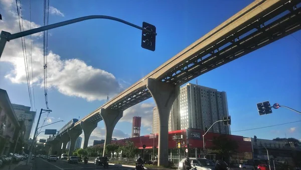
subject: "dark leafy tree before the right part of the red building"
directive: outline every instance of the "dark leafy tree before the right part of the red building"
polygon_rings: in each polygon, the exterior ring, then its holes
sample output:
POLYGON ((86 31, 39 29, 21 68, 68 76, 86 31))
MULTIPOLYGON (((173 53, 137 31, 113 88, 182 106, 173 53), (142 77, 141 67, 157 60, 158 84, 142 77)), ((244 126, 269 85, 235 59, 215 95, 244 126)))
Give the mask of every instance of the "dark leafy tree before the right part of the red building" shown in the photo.
POLYGON ((212 143, 211 149, 224 157, 229 157, 232 153, 237 152, 238 149, 237 141, 229 139, 226 135, 214 137, 212 143))

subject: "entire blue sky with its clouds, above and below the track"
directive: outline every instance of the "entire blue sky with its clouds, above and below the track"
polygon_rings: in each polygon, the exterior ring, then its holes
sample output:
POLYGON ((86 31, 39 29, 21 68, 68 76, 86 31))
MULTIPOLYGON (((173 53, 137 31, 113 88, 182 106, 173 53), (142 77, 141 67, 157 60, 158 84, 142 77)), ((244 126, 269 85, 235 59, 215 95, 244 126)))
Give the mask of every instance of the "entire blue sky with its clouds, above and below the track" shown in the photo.
MULTIPOLYGON (((0 6, 0 12, 5 20, 0 22, 0 30, 18 32, 19 23, 16 15, 13 15, 17 12, 15 2, 0 2, 3 5, 0 6)), ((50 30, 48 102, 53 110, 49 115, 51 121, 67 122, 72 118, 84 117, 101 106, 107 94, 112 98, 251 2, 73 1, 71 4, 50 1, 50 6, 59 11, 50 11, 49 24, 88 15, 108 15, 136 25, 142 25, 143 21, 151 23, 157 27, 158 33, 156 51, 152 52, 140 47, 140 30, 114 21, 90 20, 50 30), (86 78, 94 74, 97 76, 86 78), (77 84, 75 87, 72 85, 74 83, 77 84)), ((24 1, 22 4, 24 20, 29 20, 27 3, 24 1)), ((31 8, 32 22, 43 25, 43 2, 32 1, 31 8)), ((29 37, 26 40, 29 43, 29 37)), ((227 92, 232 131, 301 120, 299 114, 283 108, 265 116, 259 116, 256 109, 256 103, 270 101, 271 104, 277 102, 301 110, 300 42, 299 31, 197 78, 202 86, 227 92)), ((41 35, 33 36, 37 110, 46 109, 39 75, 43 71, 42 45, 41 35)), ((29 47, 27 44, 27 51, 29 47)), ((0 88, 8 91, 12 103, 30 106, 21 50, 20 39, 8 42, 0 60, 0 88)), ((191 82, 195 83, 196 80, 191 82)), ((142 120, 144 118, 141 134, 151 133, 151 122, 147 120, 152 118, 151 111, 155 104, 152 99, 143 103, 125 112, 126 116, 117 123, 113 136, 129 136, 133 115, 142 116, 142 120)), ((63 125, 60 122, 49 128, 60 129, 63 125)), ((98 123, 91 139, 102 138, 103 127, 103 122, 98 123)), ((301 123, 232 134, 247 137, 256 135, 265 139, 285 137, 286 134, 287 137, 301 139, 301 123)))

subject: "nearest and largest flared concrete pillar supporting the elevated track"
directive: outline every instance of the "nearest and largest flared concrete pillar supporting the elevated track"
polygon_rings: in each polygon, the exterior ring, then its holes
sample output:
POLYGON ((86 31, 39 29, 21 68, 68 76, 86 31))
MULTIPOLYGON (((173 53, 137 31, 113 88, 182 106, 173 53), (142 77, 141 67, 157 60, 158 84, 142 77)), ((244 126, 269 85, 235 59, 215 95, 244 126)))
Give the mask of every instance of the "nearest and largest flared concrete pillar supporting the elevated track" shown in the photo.
POLYGON ((153 96, 159 113, 158 166, 168 165, 168 120, 179 87, 147 78, 146 88, 153 96))

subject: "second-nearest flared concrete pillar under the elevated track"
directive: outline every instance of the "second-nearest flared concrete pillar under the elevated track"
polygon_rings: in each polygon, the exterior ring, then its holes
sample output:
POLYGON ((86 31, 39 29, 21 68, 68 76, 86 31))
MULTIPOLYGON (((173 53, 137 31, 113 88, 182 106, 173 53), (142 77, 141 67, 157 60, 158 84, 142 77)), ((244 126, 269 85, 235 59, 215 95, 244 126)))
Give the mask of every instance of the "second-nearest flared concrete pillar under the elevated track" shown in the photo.
POLYGON ((118 110, 111 110, 111 109, 100 109, 100 116, 103 119, 104 126, 105 126, 105 141, 103 145, 103 153, 102 155, 104 156, 105 154, 105 146, 107 144, 111 143, 112 140, 112 134, 113 130, 115 128, 115 125, 119 121, 120 118, 123 116, 123 111, 118 111, 118 110))

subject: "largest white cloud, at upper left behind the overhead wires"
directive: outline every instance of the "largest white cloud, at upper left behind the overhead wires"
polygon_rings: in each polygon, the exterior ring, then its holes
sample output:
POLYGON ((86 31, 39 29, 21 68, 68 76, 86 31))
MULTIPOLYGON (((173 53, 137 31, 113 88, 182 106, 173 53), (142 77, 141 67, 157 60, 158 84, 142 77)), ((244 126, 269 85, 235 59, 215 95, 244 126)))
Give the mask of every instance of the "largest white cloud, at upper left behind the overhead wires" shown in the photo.
MULTIPOLYGON (((11 33, 20 32, 18 15, 16 7, 10 5, 11 1, 0 0, 3 7, 3 20, 0 20, 0 30, 11 33)), ((30 22, 23 19, 24 30, 30 28, 30 22)), ((32 22, 32 28, 40 27, 32 22)), ((32 64, 34 83, 44 88, 44 57, 43 46, 37 41, 42 37, 42 33, 33 35, 32 40, 32 64)), ((31 57, 30 57, 30 41, 26 39, 28 70, 31 77, 31 57)), ((70 58, 70 56, 68 56, 70 58)), ((27 83, 25 64, 22 50, 21 39, 11 40, 7 42, 0 62, 8 62, 13 65, 14 69, 6 74, 6 78, 13 83, 27 83)), ((107 71, 93 68, 84 61, 72 58, 62 59, 58 54, 49 50, 47 63, 47 83, 50 90, 55 89, 60 93, 86 99, 87 101, 106 100, 107 95, 110 97, 118 94, 123 88, 115 76, 107 71)))

